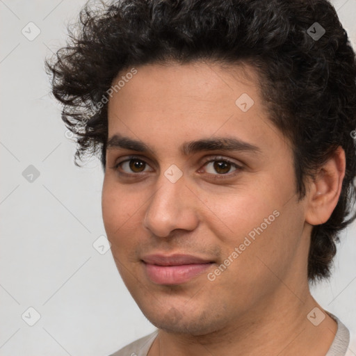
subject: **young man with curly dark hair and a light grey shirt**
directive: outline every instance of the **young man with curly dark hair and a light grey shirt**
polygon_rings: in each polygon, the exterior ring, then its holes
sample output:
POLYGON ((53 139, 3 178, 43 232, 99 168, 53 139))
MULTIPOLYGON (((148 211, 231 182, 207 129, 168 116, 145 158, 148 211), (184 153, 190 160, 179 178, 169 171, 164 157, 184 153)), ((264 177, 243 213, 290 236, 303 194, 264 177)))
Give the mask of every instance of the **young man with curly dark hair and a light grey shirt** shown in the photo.
POLYGON ((158 329, 119 355, 346 355, 309 282, 355 219, 356 61, 318 1, 115 1, 48 64, 158 329), (83 131, 77 130, 78 124, 83 131))

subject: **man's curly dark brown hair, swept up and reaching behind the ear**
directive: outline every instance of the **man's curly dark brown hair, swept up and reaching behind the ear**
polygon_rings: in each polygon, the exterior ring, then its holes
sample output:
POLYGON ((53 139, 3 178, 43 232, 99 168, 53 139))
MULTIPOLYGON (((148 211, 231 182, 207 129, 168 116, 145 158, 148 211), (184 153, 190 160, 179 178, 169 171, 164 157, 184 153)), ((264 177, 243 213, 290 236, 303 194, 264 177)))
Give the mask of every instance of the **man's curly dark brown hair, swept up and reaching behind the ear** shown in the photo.
POLYGON ((46 60, 53 94, 64 104, 62 119, 76 133, 74 163, 84 153, 99 153, 105 171, 108 93, 123 70, 195 60, 252 65, 270 121, 293 147, 299 200, 306 177, 314 177, 337 147, 346 152, 339 202, 326 223, 313 227, 309 249, 309 282, 330 277, 339 233, 356 218, 356 59, 334 7, 326 0, 101 5, 87 3, 66 47, 46 60), (313 36, 316 29, 325 30, 321 38, 313 36))

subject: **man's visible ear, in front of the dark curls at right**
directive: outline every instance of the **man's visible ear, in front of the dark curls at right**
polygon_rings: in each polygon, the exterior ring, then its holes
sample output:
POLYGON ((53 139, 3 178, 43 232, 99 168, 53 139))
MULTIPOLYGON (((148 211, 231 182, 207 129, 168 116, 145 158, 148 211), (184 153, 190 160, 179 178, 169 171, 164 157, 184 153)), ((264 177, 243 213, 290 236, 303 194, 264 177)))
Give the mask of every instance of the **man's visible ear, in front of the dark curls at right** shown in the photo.
POLYGON ((339 146, 309 184, 305 221, 310 225, 326 223, 330 218, 339 201, 345 168, 345 151, 339 146))

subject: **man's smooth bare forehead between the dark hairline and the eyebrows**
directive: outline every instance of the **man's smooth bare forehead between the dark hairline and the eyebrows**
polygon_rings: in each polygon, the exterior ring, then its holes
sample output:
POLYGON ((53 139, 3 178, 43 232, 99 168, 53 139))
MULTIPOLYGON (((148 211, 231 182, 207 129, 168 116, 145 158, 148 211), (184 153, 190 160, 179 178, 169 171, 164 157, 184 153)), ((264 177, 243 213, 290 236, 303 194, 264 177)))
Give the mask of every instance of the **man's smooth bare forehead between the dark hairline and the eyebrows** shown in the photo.
POLYGON ((139 138, 154 148, 159 141, 181 147, 183 138, 235 136, 259 147, 275 143, 268 135, 281 138, 268 119, 257 72, 248 65, 175 63, 134 69, 136 74, 125 76, 132 72, 127 68, 113 80, 113 86, 118 81, 124 85, 108 102, 109 140, 114 135, 139 138))

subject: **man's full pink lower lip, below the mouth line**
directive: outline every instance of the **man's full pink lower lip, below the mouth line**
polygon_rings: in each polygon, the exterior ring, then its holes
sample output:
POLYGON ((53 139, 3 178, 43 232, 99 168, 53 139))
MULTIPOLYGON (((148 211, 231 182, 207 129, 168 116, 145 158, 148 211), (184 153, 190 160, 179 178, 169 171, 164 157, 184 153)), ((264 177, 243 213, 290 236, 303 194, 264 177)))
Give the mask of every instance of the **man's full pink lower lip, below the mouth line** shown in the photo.
POLYGON ((179 266, 157 266, 146 264, 145 270, 149 280, 156 284, 181 284, 200 275, 212 264, 184 264, 179 266))

